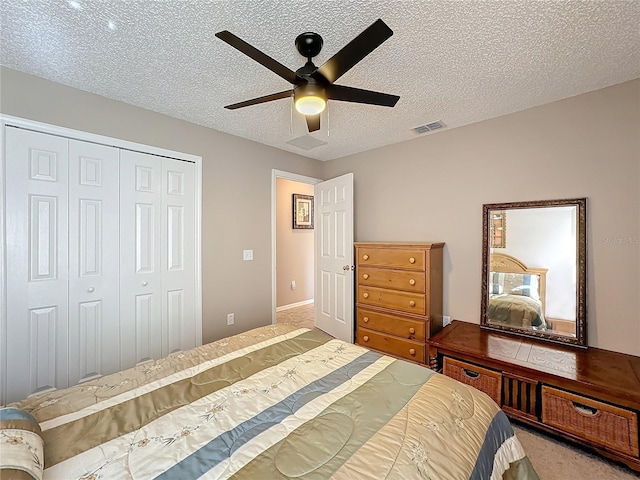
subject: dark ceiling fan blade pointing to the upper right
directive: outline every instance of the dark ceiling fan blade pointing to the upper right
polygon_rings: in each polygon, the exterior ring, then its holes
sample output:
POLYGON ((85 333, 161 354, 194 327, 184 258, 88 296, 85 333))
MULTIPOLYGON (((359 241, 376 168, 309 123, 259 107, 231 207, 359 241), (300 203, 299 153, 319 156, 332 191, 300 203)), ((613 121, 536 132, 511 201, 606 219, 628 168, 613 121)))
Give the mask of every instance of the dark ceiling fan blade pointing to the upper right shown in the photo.
POLYGON ((378 48, 393 35, 386 23, 376 20, 369 28, 351 40, 342 50, 327 60, 318 70, 329 83, 335 82, 356 63, 378 48))

